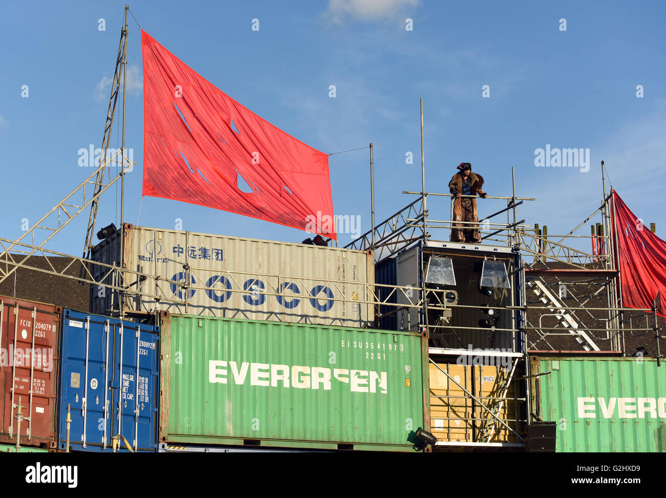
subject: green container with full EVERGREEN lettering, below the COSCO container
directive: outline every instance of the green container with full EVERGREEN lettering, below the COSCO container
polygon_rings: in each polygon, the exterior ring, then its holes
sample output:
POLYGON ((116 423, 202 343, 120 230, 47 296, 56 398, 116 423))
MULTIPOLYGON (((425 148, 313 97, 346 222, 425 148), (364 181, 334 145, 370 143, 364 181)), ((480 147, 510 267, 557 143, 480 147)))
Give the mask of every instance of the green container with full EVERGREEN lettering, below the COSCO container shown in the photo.
POLYGON ((160 442, 411 451, 429 427, 420 334, 167 313, 161 334, 160 442))

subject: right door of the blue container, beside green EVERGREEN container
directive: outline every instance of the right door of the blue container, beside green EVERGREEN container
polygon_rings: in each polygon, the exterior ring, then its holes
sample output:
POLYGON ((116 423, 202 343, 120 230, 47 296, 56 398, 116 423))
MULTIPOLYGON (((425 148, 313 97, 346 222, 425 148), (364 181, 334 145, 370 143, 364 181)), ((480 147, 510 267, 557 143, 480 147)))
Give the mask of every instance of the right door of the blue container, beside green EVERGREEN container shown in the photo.
MULTIPOLYGON (((125 437, 133 451, 157 451, 158 335, 153 327, 129 322, 116 332, 114 435, 125 437)), ((127 450, 124 441, 121 448, 127 450)))

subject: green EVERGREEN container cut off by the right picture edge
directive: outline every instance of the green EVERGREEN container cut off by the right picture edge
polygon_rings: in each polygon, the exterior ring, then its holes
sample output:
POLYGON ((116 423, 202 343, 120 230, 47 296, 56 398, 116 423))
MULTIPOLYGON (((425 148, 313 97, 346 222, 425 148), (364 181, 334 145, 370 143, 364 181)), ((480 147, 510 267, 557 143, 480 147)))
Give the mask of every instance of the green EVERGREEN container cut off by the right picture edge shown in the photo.
POLYGON ((533 413, 563 452, 666 451, 666 363, 532 356, 533 413))

